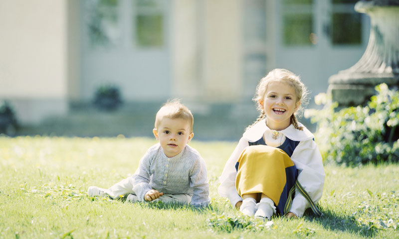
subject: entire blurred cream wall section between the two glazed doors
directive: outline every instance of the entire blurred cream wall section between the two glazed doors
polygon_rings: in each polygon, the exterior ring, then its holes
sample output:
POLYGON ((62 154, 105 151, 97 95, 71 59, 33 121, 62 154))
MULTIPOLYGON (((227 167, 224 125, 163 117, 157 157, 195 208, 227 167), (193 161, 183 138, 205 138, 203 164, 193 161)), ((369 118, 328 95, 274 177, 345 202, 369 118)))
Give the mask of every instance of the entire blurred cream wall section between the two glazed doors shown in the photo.
POLYGON ((239 101, 239 0, 174 0, 174 96, 198 103, 239 101))

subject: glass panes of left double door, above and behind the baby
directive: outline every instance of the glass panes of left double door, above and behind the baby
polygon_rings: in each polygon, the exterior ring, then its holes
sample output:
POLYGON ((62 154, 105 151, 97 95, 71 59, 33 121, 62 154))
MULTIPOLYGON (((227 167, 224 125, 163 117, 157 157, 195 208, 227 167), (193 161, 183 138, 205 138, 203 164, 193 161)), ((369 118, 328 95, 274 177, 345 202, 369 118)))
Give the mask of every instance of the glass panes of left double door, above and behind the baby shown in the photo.
POLYGON ((166 0, 84 0, 82 5, 91 48, 165 45, 166 0))

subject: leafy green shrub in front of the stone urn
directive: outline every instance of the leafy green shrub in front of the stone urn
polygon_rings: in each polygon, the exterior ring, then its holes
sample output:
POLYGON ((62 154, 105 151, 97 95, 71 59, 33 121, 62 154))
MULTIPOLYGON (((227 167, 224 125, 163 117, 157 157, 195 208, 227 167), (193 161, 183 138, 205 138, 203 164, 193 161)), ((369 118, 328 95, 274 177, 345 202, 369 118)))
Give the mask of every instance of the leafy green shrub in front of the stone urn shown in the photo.
POLYGON ((386 84, 367 106, 338 109, 326 94, 315 97, 322 110, 307 110, 317 123, 315 140, 324 160, 348 166, 399 161, 399 92, 386 84))

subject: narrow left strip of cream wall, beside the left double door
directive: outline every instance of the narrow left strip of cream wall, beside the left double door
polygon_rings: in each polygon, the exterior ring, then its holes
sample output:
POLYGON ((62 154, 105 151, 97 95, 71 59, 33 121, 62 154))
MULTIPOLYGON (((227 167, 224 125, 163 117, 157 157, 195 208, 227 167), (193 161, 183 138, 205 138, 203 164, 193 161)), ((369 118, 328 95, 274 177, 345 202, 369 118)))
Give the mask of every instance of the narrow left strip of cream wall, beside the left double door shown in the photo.
POLYGON ((200 61, 203 32, 200 26, 201 3, 174 0, 172 8, 173 96, 197 101, 202 95, 200 61))

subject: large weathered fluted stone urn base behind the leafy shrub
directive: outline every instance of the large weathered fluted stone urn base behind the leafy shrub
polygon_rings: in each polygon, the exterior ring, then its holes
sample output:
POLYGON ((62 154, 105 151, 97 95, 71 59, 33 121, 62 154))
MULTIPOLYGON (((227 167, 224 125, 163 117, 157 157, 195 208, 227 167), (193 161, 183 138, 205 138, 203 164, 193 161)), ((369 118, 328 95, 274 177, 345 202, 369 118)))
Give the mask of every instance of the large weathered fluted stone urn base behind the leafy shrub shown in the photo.
POLYGON ((399 0, 361 0, 355 10, 370 16, 370 38, 362 58, 328 80, 340 106, 367 103, 378 84, 399 86, 399 0))

